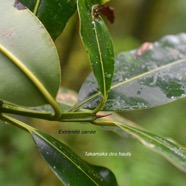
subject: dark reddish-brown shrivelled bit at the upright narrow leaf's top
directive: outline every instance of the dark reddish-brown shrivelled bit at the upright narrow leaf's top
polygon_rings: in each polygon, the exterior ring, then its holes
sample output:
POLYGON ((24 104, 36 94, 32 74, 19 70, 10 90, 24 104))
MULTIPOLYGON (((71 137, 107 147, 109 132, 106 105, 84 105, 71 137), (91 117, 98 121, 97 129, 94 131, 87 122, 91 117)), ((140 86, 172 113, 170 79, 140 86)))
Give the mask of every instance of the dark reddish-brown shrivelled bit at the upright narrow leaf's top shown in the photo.
POLYGON ((114 22, 115 15, 114 9, 110 6, 98 5, 93 8, 93 15, 95 19, 98 19, 100 13, 102 13, 111 23, 114 22))

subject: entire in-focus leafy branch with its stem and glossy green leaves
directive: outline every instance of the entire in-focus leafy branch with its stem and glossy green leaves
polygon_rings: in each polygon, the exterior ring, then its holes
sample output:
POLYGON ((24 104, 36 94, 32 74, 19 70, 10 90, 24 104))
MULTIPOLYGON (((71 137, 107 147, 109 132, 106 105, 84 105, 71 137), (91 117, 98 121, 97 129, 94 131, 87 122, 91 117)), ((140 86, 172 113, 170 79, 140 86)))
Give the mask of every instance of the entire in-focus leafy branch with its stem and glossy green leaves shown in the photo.
MULTIPOLYGON (((14 115, 114 127, 186 172, 183 146, 131 126, 131 121, 115 113, 110 116, 112 111, 149 109, 185 97, 186 34, 166 36, 114 57, 110 33, 97 11, 100 6, 110 11, 106 2, 0 0, 0 119, 31 134, 41 155, 65 185, 118 184, 111 170, 85 162, 63 142, 14 115), (76 10, 93 72, 82 85, 78 101, 72 104, 63 99, 53 41, 76 10)), ((107 17, 110 13, 107 11, 107 17)))

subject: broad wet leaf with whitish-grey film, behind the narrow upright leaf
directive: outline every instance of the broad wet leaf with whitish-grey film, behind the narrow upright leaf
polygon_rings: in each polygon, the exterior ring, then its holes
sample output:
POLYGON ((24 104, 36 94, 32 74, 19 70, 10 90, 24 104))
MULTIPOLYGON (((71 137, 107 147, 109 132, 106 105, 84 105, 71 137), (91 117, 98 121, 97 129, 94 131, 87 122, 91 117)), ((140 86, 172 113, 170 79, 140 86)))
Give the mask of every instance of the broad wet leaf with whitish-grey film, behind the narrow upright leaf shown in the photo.
MULTIPOLYGON (((103 110, 151 108, 186 96, 186 34, 165 36, 147 51, 140 50, 116 56, 111 91, 103 110)), ((100 95, 90 75, 80 90, 78 106, 86 103, 84 108, 94 109, 100 95)))

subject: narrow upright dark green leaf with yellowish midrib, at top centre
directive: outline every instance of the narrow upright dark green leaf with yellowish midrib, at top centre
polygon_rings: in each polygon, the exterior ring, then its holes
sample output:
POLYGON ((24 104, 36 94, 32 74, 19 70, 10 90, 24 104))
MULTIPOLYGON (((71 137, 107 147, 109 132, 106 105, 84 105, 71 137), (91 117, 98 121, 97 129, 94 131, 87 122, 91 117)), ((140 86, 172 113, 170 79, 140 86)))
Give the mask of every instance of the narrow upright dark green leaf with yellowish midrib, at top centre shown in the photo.
POLYGON ((94 16, 98 0, 78 0, 80 34, 88 51, 99 90, 106 99, 114 71, 114 52, 108 29, 100 16, 94 16))

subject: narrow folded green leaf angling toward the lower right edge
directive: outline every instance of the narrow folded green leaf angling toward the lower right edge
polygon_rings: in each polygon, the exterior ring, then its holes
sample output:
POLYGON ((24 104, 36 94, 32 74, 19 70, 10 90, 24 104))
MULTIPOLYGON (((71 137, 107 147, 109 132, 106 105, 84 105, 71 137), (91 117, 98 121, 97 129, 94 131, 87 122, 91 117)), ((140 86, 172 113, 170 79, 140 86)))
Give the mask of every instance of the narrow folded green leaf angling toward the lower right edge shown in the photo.
POLYGON ((126 124, 116 123, 116 125, 137 138, 147 148, 161 154, 177 168, 186 172, 186 149, 183 146, 126 124))

